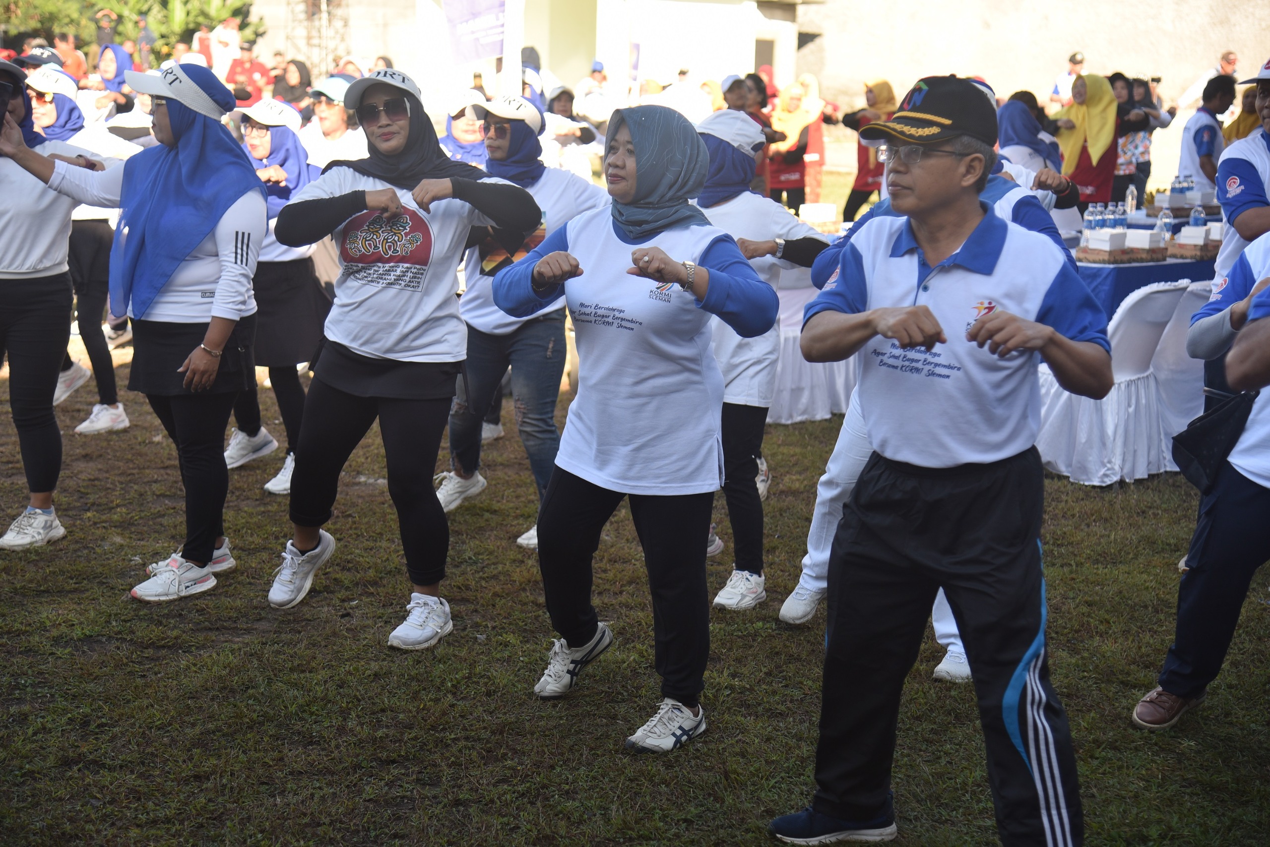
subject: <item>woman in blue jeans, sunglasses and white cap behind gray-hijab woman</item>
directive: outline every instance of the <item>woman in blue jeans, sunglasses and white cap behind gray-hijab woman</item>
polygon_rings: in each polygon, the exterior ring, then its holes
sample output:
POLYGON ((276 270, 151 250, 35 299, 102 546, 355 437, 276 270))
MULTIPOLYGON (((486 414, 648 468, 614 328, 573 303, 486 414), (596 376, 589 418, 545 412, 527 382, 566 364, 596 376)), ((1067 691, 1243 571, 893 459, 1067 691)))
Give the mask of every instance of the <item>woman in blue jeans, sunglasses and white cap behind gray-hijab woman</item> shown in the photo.
MULTIPOLYGON (((532 250, 542 239, 583 212, 608 206, 608 194, 589 179, 547 168, 540 160, 542 113, 523 97, 504 97, 475 107, 484 121, 486 170, 525 188, 542 210, 542 223, 521 250, 532 250)), ((514 239, 513 239, 514 240, 514 239)), ((564 373, 564 300, 531 317, 512 317, 494 305, 493 281, 512 264, 514 245, 500 244, 493 234, 467 254, 467 290, 458 310, 467 324, 467 386, 450 413, 450 464, 437 497, 447 512, 485 488, 480 475, 481 423, 494 401, 499 381, 512 368, 521 443, 538 488, 538 500, 551 480, 560 433, 555 405, 564 373), (507 248, 512 246, 512 250, 507 248)), ((537 528, 517 538, 522 547, 537 547, 537 528)))

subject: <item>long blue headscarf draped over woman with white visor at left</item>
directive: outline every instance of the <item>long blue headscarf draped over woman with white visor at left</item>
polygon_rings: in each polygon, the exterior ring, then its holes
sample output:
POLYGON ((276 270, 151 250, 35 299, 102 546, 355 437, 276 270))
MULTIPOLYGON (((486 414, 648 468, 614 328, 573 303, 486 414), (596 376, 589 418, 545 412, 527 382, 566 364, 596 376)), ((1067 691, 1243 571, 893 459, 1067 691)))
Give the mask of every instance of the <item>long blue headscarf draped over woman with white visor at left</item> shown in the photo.
MULTIPOLYGON (((234 95, 206 67, 180 67, 226 112, 234 95)), ((207 237, 226 210, 264 185, 251 160, 220 122, 168 98, 177 145, 146 147, 123 163, 119 222, 110 250, 110 311, 145 317, 173 272, 207 237)))

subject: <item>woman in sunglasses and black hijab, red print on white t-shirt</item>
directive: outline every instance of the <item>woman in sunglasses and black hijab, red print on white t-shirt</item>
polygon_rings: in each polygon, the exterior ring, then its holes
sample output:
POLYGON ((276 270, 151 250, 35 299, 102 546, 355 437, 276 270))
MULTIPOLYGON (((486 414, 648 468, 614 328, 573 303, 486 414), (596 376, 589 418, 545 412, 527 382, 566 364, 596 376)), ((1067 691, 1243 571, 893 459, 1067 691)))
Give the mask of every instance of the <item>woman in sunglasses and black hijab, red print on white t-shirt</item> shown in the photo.
POLYGON ((406 620, 389 645, 419 650, 452 627, 439 597, 450 528, 432 474, 467 350, 456 272, 474 226, 504 230, 514 250, 541 212, 523 188, 478 182, 484 171, 446 157, 419 88, 401 71, 357 80, 345 102, 357 109, 370 156, 328 165, 282 210, 274 230, 290 246, 333 235, 343 269, 300 428, 293 535, 269 603, 300 603, 330 559, 335 541, 321 527, 344 462, 377 418, 413 585, 406 620))

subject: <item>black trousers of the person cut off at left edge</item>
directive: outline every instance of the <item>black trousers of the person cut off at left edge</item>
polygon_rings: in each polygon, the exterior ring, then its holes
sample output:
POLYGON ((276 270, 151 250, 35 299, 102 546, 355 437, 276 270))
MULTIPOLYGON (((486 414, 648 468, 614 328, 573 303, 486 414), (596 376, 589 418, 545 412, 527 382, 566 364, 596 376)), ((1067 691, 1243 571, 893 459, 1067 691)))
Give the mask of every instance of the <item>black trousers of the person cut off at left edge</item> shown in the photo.
POLYGON ((70 338, 69 274, 0 282, 0 354, 9 358, 9 410, 27 488, 36 494, 56 489, 62 470, 53 391, 70 338))

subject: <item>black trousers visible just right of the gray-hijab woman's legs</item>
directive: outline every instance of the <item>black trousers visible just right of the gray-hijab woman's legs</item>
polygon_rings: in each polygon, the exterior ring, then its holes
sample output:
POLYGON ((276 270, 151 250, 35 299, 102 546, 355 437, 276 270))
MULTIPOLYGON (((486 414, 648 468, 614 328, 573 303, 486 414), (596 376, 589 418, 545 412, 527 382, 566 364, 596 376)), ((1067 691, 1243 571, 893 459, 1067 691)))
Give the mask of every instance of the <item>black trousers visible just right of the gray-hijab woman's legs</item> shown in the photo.
POLYGON ((758 458, 763 455, 765 406, 723 404, 723 495, 735 547, 737 570, 763 574, 763 502, 758 499, 758 458))

